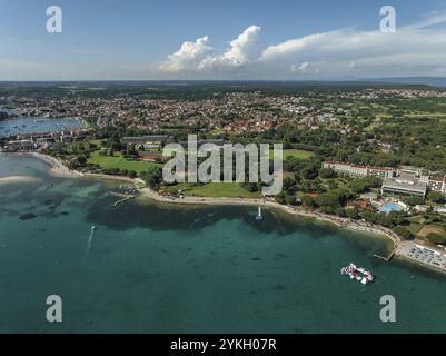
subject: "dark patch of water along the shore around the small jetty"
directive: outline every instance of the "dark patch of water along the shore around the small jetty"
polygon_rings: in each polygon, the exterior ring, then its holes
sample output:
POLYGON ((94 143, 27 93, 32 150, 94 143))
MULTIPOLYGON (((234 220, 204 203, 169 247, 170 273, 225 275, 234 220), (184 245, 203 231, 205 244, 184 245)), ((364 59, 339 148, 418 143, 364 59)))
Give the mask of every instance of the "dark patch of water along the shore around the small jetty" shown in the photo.
POLYGON ((179 206, 137 199, 113 208, 115 200, 113 197, 96 199, 89 206, 88 221, 116 230, 142 227, 153 230, 199 231, 220 220, 239 220, 260 234, 277 234, 279 230, 283 236, 286 236, 299 229, 299 231, 311 233, 311 235, 316 231, 317 236, 324 237, 334 231, 330 227, 315 225, 296 217, 281 219, 276 211, 269 209, 264 210, 262 221, 256 221, 257 207, 179 206))

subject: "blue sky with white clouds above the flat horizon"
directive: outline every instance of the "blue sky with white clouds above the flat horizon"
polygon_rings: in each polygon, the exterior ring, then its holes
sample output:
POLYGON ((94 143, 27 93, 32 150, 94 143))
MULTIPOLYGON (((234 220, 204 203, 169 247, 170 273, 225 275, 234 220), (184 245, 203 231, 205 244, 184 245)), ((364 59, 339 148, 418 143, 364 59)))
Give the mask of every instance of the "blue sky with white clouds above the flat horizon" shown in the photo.
POLYGON ((446 77, 446 0, 0 0, 0 80, 414 76, 446 77))

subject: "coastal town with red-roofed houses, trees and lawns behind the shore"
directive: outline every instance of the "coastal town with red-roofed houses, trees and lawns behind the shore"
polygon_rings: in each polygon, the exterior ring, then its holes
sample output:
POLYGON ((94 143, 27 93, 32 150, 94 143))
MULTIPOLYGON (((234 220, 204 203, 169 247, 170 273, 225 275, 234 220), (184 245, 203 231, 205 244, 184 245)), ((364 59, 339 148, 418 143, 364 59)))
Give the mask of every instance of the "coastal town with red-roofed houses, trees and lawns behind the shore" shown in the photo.
MULTIPOLYGON (((169 144, 283 144, 280 194, 262 199, 446 246, 446 91, 423 86, 270 85, 0 89, 0 149, 50 155, 79 172, 139 178, 163 197, 260 198, 266 182, 166 182, 169 144), (47 92, 50 91, 50 92, 47 92), (33 92, 33 95, 30 95, 33 92), (8 118, 8 116, 10 116, 8 118), (11 134, 17 117, 80 128, 11 134)), ((221 179, 222 180, 222 179, 221 179)), ((407 250, 410 250, 407 249, 407 250)), ((407 253, 408 254, 408 253, 407 253)))

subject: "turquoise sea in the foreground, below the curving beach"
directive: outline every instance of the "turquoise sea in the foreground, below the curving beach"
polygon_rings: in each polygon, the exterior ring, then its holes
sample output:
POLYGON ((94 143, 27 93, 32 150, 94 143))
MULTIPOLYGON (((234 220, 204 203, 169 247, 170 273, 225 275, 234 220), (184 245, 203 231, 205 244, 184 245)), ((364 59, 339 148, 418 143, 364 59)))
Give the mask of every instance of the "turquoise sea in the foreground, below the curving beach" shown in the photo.
POLYGON ((0 155, 0 333, 444 333, 446 276, 373 257, 387 240, 256 208, 117 208, 116 182, 0 155), (98 230, 88 250, 90 227, 98 230), (354 261, 376 283, 339 275, 354 261), (59 295, 63 322, 46 320, 59 295), (396 323, 381 323, 383 295, 396 323))

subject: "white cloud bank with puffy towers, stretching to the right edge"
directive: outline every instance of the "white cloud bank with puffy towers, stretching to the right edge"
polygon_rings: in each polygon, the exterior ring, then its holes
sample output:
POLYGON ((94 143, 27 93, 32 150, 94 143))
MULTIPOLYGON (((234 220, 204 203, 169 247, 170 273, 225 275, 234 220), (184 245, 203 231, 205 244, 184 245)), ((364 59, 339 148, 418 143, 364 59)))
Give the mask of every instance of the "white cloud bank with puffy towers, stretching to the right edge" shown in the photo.
POLYGON ((167 57, 161 70, 250 78, 293 79, 299 76, 386 77, 429 76, 443 72, 446 63, 446 13, 397 27, 396 32, 376 29, 336 29, 264 44, 261 28, 249 26, 224 50, 214 49, 208 37, 185 42, 167 57))

